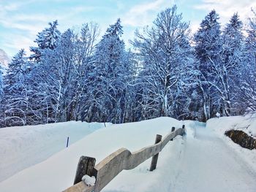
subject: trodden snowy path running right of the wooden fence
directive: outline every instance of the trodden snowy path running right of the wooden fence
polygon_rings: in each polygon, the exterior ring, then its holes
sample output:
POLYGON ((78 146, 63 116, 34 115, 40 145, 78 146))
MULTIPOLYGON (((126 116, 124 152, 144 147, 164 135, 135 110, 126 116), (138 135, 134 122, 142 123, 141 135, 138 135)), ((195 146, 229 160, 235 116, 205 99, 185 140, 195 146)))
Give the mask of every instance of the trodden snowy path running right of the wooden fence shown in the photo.
POLYGON ((213 131, 195 127, 170 191, 256 191, 256 174, 213 131))

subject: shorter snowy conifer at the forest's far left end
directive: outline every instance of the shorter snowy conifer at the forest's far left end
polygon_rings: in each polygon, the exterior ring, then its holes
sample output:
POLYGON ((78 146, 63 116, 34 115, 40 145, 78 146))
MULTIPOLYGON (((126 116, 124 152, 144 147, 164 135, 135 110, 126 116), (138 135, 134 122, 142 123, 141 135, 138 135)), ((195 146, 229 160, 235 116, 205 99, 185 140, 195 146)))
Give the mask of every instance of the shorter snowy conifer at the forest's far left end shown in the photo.
POLYGON ((6 126, 25 126, 29 111, 25 51, 14 56, 4 76, 4 115, 6 126))

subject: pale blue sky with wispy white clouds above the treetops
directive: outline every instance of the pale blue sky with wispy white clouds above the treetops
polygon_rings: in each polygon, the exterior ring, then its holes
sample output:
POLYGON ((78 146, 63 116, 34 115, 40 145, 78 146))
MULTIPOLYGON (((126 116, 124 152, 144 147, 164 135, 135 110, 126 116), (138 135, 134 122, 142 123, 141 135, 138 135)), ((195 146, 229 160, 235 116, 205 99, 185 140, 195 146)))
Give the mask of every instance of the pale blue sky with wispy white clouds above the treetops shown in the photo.
POLYGON ((159 12, 174 4, 190 22, 192 32, 212 9, 222 25, 234 12, 246 23, 246 18, 252 17, 251 8, 256 9, 255 0, 0 0, 0 48, 10 57, 21 48, 29 54, 37 34, 53 20, 58 20, 61 32, 78 30, 83 23, 98 23, 103 35, 117 18, 121 18, 123 39, 129 47, 136 28, 151 26, 159 12))

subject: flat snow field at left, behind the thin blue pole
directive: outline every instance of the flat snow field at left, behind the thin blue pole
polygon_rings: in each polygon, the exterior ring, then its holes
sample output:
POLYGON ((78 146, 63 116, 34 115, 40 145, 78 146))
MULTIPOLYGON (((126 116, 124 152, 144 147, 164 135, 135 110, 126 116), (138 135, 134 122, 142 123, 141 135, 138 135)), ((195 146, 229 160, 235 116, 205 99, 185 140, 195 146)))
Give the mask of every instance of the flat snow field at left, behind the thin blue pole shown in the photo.
POLYGON ((102 127, 102 123, 70 121, 0 128, 0 182, 63 150, 67 137, 71 145, 102 127))

